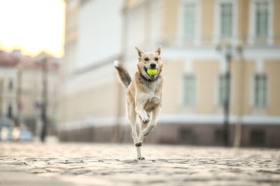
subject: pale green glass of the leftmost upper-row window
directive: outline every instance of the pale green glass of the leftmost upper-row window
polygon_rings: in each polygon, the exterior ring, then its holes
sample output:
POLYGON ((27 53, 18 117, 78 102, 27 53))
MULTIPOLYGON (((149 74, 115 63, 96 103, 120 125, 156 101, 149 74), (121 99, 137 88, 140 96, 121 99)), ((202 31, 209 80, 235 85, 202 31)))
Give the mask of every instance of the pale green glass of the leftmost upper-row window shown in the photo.
POLYGON ((184 36, 193 38, 195 36, 195 4, 186 3, 184 10, 184 36))

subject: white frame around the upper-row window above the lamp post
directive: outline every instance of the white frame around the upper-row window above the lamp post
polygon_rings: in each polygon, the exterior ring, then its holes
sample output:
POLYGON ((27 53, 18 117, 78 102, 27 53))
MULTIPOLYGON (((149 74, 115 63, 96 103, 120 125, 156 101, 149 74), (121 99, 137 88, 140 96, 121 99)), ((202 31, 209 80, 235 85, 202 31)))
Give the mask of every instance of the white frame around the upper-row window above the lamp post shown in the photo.
MULTIPOLYGON (((215 3, 215 24, 214 24, 214 39, 213 43, 217 44, 221 41, 221 4, 231 3, 232 4, 232 37, 227 38, 236 41, 238 39, 237 29, 238 29, 238 4, 237 0, 218 0, 215 3)), ((224 38, 225 39, 225 38, 224 38)))

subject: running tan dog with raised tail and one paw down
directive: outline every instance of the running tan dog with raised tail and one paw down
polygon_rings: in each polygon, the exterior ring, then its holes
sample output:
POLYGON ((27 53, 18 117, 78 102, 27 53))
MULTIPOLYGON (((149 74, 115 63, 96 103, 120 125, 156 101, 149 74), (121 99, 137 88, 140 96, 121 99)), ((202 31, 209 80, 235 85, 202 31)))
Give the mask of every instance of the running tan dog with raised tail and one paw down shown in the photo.
POLYGON ((126 89, 126 112, 132 127, 132 139, 137 147, 137 159, 145 160, 141 155, 141 146, 144 137, 150 134, 157 125, 162 107, 162 86, 164 78, 160 46, 155 52, 142 52, 135 47, 138 53, 138 71, 130 77, 127 68, 122 63, 115 61, 118 80, 126 89), (148 69, 157 69, 153 76, 148 75, 148 69), (139 134, 137 134, 137 118, 139 119, 139 134))

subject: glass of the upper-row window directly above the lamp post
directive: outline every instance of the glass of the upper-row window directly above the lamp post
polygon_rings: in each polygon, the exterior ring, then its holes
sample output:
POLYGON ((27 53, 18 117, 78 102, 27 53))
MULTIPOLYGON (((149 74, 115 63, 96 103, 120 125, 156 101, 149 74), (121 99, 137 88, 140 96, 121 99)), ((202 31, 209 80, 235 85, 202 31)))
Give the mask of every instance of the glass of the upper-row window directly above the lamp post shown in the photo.
POLYGON ((232 4, 231 3, 221 3, 221 36, 222 37, 232 37, 232 4))

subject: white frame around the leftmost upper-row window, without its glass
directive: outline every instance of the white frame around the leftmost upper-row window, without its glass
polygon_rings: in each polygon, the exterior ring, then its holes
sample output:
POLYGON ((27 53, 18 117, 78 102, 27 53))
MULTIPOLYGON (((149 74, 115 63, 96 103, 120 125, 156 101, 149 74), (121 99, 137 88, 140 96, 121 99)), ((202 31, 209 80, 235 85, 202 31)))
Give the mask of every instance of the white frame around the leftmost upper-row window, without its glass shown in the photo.
POLYGON ((194 45, 200 45, 200 35, 201 35, 201 0, 179 0, 179 11, 178 11, 178 33, 177 33, 177 44, 184 45, 184 20, 185 20, 185 5, 188 3, 192 3, 195 5, 195 36, 193 39, 194 45))

